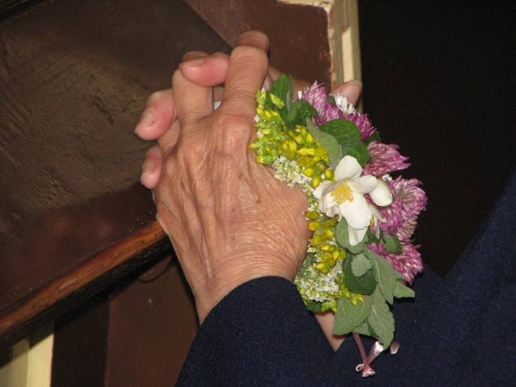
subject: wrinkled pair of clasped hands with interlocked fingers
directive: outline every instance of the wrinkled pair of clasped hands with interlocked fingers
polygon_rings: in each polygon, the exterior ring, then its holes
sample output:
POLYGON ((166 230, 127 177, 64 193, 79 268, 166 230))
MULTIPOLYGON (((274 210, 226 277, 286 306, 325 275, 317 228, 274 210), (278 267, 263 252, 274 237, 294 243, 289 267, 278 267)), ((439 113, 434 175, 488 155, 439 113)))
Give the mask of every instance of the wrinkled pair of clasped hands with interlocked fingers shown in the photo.
MULTIPOLYGON (((249 149, 256 92, 281 74, 269 68, 268 50, 267 36, 249 31, 229 56, 185 54, 172 89, 149 97, 135 129, 144 140, 158 140, 145 156, 141 182, 153 190, 156 218, 191 286, 200 323, 244 282, 265 276, 292 282, 307 251, 306 195, 277 180, 249 149), (216 110, 214 101, 221 101, 216 110)), ((295 95, 306 86, 296 81, 295 95)), ((360 92, 354 81, 332 91, 351 103, 360 92)), ((343 338, 332 335, 334 315, 317 319, 337 349, 343 338)))

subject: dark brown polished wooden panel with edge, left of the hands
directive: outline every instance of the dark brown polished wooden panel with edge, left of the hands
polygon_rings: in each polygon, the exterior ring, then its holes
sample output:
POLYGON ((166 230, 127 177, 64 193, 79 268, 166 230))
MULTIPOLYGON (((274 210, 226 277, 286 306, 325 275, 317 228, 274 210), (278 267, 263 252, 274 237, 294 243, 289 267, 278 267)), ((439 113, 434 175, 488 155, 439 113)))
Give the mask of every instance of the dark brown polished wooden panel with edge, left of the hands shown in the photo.
POLYGON ((182 54, 229 48, 179 0, 43 1, 0 35, 2 351, 170 254, 133 129, 182 54))

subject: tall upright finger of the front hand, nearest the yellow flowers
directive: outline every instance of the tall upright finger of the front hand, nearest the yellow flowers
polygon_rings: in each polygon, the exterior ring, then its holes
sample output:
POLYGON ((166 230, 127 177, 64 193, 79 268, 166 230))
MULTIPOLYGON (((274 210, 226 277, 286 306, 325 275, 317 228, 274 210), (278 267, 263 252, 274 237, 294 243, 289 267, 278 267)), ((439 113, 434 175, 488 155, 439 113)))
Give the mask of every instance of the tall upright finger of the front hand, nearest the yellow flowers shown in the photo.
POLYGON ((221 108, 230 114, 253 117, 255 95, 267 76, 269 60, 261 48, 239 45, 231 52, 221 108))

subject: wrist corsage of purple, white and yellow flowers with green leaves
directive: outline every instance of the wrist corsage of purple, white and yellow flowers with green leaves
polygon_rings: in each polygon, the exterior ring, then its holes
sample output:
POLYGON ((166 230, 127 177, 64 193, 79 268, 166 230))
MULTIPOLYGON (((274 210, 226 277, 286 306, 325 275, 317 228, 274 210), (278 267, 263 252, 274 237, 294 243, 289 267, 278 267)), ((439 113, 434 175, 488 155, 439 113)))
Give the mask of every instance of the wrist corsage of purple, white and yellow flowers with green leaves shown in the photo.
POLYGON ((335 313, 333 333, 353 333, 363 363, 384 349, 395 353, 395 298, 414 297, 411 284, 422 272, 412 243, 427 197, 415 179, 390 173, 410 164, 397 145, 381 143, 367 115, 345 96, 327 96, 314 83, 293 98, 293 78, 281 75, 256 94, 258 163, 307 194, 305 217, 313 236, 295 284, 312 312, 335 313), (377 341, 366 356, 359 335, 377 341))

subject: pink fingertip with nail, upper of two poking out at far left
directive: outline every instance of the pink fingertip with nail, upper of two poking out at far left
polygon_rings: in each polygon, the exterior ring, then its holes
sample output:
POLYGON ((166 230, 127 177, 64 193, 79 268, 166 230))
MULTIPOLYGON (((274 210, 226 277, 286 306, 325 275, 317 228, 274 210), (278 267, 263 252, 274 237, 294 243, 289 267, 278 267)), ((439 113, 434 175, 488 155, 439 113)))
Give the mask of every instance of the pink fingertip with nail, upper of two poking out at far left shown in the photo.
POLYGON ((147 98, 145 110, 134 131, 142 140, 156 140, 168 130, 175 117, 172 89, 155 92, 147 98))

